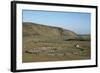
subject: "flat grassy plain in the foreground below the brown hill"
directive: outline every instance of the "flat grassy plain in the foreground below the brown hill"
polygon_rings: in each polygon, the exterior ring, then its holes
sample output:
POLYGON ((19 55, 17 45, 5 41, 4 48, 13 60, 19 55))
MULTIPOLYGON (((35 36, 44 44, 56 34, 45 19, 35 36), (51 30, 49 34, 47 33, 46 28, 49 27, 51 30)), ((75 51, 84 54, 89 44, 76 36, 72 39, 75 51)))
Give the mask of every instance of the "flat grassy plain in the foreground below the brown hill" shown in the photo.
POLYGON ((90 41, 32 41, 31 38, 24 38, 23 41, 23 62, 43 62, 62 60, 83 60, 90 59, 90 41), (80 45, 77 48, 76 45, 80 45), (37 49, 38 54, 25 53, 26 50, 37 49), (44 51, 48 52, 45 53, 44 51), (52 52, 49 52, 53 50, 52 52), (50 55, 51 53, 51 55, 50 55))

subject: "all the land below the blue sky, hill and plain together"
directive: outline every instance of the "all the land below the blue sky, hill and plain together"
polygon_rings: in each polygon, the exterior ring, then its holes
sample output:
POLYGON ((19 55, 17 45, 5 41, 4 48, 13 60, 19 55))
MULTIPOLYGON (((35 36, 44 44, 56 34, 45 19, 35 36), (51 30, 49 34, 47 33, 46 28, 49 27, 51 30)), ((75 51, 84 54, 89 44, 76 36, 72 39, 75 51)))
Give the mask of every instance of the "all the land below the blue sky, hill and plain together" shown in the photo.
POLYGON ((90 59, 90 35, 59 27, 23 23, 22 61, 45 62, 90 59))

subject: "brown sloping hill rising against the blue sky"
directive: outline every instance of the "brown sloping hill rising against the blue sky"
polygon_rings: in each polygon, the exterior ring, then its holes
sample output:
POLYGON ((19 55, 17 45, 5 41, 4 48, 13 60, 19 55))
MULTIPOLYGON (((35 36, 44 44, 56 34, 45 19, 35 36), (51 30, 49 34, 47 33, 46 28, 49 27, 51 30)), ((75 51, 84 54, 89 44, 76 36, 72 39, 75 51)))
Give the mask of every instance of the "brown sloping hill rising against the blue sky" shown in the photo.
POLYGON ((23 37, 33 37, 49 40, 77 39, 75 32, 60 27, 47 26, 37 23, 23 22, 23 37))

